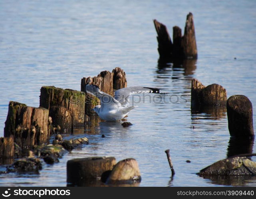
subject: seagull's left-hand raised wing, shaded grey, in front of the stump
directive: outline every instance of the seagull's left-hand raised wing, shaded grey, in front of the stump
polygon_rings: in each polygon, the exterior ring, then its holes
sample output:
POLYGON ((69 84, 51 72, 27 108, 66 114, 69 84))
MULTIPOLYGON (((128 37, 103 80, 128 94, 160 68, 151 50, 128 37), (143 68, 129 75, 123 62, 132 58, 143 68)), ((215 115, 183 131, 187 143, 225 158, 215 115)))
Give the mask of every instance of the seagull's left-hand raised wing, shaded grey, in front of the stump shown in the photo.
POLYGON ((121 106, 120 102, 115 100, 112 96, 109 94, 106 94, 102 91, 99 90, 99 87, 94 85, 94 84, 87 84, 86 87, 86 92, 89 94, 92 94, 99 98, 101 101, 101 109, 112 109, 118 106, 121 106))

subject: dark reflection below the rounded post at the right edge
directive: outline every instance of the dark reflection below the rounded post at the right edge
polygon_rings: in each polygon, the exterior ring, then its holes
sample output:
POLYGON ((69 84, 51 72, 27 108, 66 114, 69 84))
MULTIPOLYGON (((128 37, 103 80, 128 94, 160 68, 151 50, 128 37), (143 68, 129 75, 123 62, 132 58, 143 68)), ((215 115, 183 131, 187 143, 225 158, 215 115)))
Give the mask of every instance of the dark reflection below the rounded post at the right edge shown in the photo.
POLYGON ((253 152, 254 137, 230 137, 227 148, 227 157, 253 152))

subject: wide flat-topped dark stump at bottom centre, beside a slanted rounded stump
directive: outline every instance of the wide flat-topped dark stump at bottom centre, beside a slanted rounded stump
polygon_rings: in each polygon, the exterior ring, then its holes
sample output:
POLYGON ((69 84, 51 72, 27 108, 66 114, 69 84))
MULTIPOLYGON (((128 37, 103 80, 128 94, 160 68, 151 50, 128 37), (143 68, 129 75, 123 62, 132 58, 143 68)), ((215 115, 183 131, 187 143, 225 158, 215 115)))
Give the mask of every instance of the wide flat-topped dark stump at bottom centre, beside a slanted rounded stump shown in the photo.
POLYGON ((100 180, 104 172, 112 170, 114 157, 79 158, 67 161, 67 183, 83 184, 84 181, 100 180))

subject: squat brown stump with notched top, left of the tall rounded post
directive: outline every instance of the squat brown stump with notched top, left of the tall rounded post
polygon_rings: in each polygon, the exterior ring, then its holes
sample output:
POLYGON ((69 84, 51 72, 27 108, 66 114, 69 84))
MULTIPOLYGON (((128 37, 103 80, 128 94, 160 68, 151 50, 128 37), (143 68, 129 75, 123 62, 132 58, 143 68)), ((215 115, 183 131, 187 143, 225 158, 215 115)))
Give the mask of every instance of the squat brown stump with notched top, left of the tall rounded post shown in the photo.
POLYGON ((218 84, 204 86, 196 79, 191 82, 191 106, 226 105, 226 89, 218 84))

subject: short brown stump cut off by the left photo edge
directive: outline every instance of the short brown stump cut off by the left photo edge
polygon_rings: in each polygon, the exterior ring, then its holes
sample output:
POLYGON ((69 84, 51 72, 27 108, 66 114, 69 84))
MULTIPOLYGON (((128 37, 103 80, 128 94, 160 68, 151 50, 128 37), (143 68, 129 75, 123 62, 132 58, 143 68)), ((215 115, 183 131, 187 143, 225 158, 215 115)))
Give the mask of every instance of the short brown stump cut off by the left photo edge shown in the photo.
POLYGON ((10 137, 0 138, 0 158, 12 158, 14 156, 14 139, 10 137))

